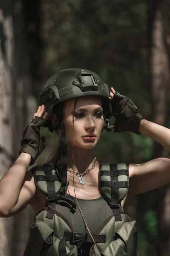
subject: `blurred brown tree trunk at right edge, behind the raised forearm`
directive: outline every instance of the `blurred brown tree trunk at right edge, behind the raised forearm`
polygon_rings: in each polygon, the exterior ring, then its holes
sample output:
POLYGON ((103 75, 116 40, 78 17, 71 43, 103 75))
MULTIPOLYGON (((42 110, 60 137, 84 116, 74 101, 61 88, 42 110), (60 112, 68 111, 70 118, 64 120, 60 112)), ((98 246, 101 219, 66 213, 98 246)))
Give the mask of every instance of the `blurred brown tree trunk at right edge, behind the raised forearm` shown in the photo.
MULTIPOLYGON (((166 94, 170 83, 169 63, 163 34, 163 0, 150 1, 149 44, 152 92, 152 121, 167 125, 166 94)), ((161 145, 155 143, 153 158, 167 154, 161 145)), ((168 255, 170 251, 170 188, 165 186, 156 190, 156 209, 158 209, 158 256, 168 255)))

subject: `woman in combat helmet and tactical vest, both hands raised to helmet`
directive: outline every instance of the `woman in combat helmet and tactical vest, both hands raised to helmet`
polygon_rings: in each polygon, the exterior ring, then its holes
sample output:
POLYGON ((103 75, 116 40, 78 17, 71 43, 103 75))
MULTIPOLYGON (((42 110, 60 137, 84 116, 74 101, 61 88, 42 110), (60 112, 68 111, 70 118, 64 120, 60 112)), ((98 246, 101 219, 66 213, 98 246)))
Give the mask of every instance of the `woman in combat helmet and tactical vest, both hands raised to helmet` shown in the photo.
POLYGON ((62 70, 52 76, 40 105, 23 132, 20 156, 0 180, 0 217, 15 215, 28 204, 35 214, 24 256, 137 256, 135 222, 124 214, 121 201, 169 183, 169 156, 100 166, 92 149, 104 121, 107 131, 144 134, 168 151, 170 130, 144 119, 130 99, 113 88, 109 92, 89 70, 62 70), (27 171, 45 148, 41 125, 58 134, 58 157, 27 171))

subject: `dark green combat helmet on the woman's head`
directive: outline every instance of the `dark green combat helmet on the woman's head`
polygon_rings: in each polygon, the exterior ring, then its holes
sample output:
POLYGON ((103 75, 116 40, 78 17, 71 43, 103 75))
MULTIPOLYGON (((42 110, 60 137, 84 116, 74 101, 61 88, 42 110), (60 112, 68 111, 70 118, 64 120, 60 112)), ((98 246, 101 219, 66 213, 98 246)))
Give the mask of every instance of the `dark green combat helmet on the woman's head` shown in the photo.
POLYGON ((39 105, 45 106, 48 112, 46 121, 42 126, 48 127, 50 117, 55 105, 68 99, 81 96, 102 96, 106 101, 106 119, 111 116, 112 108, 109 99, 109 88, 96 73, 80 68, 61 70, 55 73, 46 82, 40 93, 39 105))

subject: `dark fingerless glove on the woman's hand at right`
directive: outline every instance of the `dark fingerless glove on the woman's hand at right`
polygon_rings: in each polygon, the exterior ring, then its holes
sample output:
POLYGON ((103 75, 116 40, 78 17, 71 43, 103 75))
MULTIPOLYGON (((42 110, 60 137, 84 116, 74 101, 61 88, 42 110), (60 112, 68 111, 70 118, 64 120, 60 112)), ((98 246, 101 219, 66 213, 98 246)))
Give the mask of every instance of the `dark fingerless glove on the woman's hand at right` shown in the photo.
POLYGON ((112 131, 131 131, 135 134, 140 134, 139 124, 144 117, 138 113, 136 105, 127 97, 115 92, 112 99, 112 116, 115 118, 115 123, 112 126, 112 131))

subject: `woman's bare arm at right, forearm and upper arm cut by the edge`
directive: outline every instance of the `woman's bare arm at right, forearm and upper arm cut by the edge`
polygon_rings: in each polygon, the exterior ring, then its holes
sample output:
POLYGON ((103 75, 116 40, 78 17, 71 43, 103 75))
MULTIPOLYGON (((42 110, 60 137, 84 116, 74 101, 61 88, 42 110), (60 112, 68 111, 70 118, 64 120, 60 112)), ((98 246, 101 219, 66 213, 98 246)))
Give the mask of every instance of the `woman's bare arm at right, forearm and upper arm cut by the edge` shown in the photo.
MULTIPOLYGON (((143 119, 139 132, 170 151, 170 129, 143 119)), ((170 183, 170 156, 153 159, 147 163, 130 164, 129 175, 130 188, 127 197, 164 186, 170 183)))

